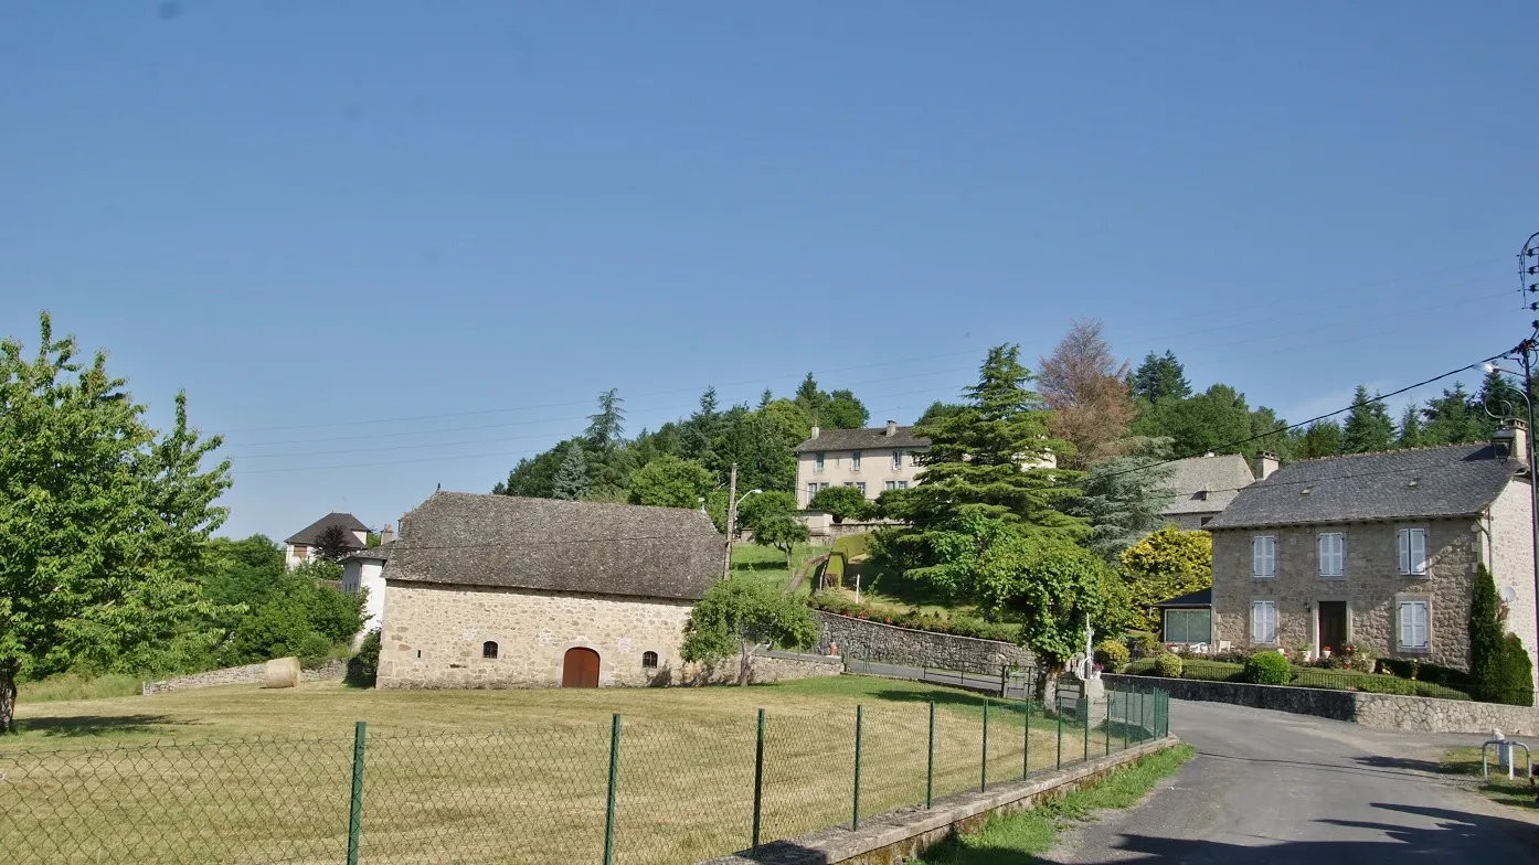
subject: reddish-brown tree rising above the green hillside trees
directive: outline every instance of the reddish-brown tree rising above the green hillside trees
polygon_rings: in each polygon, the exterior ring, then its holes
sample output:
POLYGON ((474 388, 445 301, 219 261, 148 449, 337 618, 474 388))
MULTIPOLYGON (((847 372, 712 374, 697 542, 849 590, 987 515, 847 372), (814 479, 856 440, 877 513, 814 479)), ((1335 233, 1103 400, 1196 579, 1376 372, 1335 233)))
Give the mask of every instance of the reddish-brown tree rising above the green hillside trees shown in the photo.
POLYGON ((1077 319, 1040 360, 1037 389, 1053 409, 1053 434, 1074 446, 1068 468, 1088 468, 1123 453, 1134 406, 1128 365, 1111 354, 1100 322, 1077 319))

